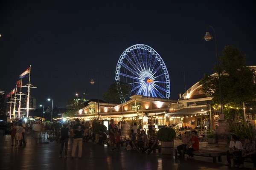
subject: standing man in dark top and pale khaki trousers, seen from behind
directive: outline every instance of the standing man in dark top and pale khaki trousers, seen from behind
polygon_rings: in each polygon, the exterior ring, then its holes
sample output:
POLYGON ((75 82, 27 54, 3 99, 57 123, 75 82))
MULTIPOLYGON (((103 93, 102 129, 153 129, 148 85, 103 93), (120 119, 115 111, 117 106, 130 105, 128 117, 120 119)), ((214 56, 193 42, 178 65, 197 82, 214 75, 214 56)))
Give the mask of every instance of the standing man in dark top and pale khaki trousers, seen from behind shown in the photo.
POLYGON ((71 158, 75 158, 76 148, 78 145, 78 157, 82 157, 82 144, 83 144, 83 136, 84 136, 85 127, 80 123, 79 118, 76 118, 76 124, 71 129, 71 134, 74 136, 71 158))

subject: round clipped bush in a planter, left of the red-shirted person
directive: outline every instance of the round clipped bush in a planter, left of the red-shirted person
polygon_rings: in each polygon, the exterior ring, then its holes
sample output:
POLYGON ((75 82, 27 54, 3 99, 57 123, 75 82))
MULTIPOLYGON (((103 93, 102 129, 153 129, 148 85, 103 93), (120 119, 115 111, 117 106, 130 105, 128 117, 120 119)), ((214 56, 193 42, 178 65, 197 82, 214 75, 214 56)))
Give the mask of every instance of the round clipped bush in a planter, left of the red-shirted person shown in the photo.
POLYGON ((176 132, 170 127, 163 127, 158 130, 157 138, 161 141, 161 153, 172 154, 176 132))

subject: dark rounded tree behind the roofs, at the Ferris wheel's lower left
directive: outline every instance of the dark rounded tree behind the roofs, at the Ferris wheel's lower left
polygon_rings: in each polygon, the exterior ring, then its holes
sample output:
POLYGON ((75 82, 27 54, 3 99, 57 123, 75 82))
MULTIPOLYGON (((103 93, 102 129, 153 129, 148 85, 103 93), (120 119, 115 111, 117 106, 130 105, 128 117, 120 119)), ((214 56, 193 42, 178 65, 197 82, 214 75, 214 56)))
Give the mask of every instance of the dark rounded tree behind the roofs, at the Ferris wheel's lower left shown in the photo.
POLYGON ((124 97, 128 96, 130 94, 130 86, 128 84, 120 82, 119 84, 116 84, 116 82, 113 82, 109 88, 103 93, 104 100, 106 102, 110 103, 122 103, 122 100, 120 99, 118 88, 121 89, 120 92, 122 92, 122 95, 124 97))

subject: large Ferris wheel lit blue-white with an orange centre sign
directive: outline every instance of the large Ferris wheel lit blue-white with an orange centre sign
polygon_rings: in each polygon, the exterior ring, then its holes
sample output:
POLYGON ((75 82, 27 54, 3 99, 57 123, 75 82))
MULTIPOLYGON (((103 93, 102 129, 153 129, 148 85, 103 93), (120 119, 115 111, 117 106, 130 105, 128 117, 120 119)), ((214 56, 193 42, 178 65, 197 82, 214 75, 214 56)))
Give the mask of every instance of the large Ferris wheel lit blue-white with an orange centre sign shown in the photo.
POLYGON ((130 86, 130 94, 150 97, 169 98, 170 80, 163 59, 151 47, 136 44, 127 48, 116 65, 116 85, 122 102, 121 83, 130 86))

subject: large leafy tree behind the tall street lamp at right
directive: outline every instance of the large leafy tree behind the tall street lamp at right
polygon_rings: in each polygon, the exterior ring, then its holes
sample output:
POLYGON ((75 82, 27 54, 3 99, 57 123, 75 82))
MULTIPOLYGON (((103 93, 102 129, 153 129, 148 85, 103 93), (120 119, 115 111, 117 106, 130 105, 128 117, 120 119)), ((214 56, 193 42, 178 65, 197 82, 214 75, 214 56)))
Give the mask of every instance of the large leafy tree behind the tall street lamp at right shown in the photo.
MULTIPOLYGON (((227 45, 220 57, 221 91, 223 113, 227 118, 243 113, 242 102, 253 102, 256 99, 256 79, 254 70, 245 65, 245 54, 239 48, 227 45)), ((213 68, 217 72, 217 67, 213 68)), ((199 85, 202 92, 212 97, 212 104, 218 106, 218 76, 204 75, 199 85)))

